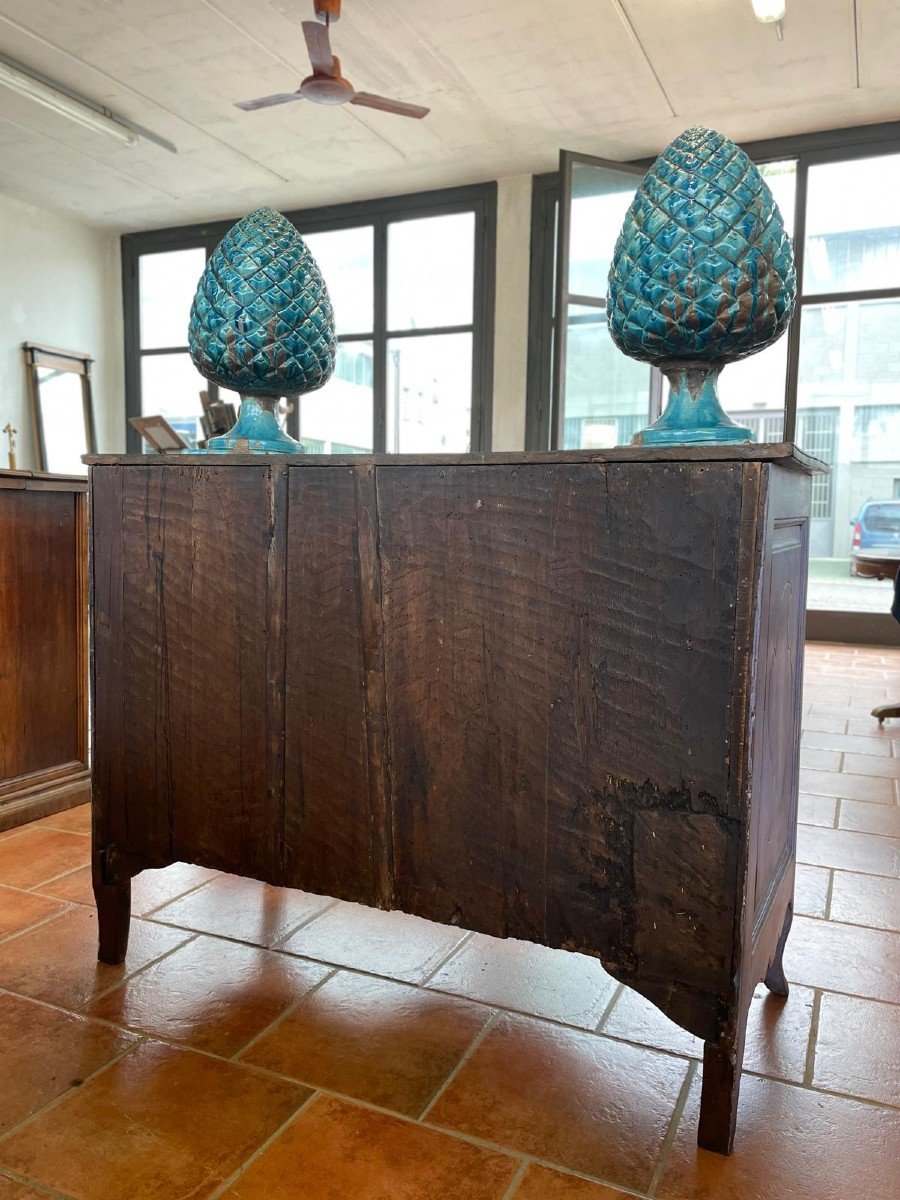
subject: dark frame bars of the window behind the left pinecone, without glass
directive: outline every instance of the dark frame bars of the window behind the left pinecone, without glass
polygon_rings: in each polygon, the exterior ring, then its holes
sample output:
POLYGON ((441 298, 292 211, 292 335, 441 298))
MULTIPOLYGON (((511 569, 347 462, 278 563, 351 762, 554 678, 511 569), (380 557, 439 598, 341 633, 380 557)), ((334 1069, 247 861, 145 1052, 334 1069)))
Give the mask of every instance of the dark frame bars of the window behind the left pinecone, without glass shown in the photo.
MULTIPOLYGON (((314 209, 293 209, 284 212, 301 233, 325 233, 349 229, 360 224, 373 227, 374 268, 374 329, 373 329, 373 451, 383 454, 386 444, 388 414, 388 226, 397 221, 415 221, 420 217, 449 216, 456 212, 475 214, 475 254, 473 272, 472 325, 448 325, 438 329, 403 330, 400 336, 421 337, 434 332, 472 332, 472 450, 486 452, 491 449, 493 415, 493 334, 494 289, 497 268, 497 184, 473 184, 466 187, 442 188, 433 192, 416 192, 407 196, 390 196, 374 200, 354 200, 314 209)), ((122 259, 122 307, 125 318, 125 415, 126 421, 142 414, 140 359, 146 354, 184 353, 186 346, 140 349, 139 262, 142 254, 162 253, 170 250, 191 250, 202 246, 206 257, 212 253, 228 229, 239 220, 204 222, 176 226, 168 229, 150 229, 124 234, 122 259)), ((392 337, 397 332, 391 334, 392 337)), ((359 336, 347 335, 344 341, 359 341, 359 336)), ((210 384, 210 398, 216 398, 217 388, 210 384)), ((288 415, 288 432, 296 437, 299 410, 288 415)), ((126 424, 127 449, 131 454, 140 450, 140 437, 126 424)))

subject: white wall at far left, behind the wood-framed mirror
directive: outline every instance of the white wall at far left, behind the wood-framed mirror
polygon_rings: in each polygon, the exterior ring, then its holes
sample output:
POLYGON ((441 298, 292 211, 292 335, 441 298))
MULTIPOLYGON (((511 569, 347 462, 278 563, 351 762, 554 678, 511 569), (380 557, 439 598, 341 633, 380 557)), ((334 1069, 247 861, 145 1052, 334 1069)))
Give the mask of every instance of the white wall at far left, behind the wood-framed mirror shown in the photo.
MULTIPOLYGON (((97 449, 125 449, 119 238, 0 196, 0 430, 18 432, 18 466, 37 469, 23 342, 91 354, 97 449)), ((0 467, 6 467, 6 437, 0 467)))

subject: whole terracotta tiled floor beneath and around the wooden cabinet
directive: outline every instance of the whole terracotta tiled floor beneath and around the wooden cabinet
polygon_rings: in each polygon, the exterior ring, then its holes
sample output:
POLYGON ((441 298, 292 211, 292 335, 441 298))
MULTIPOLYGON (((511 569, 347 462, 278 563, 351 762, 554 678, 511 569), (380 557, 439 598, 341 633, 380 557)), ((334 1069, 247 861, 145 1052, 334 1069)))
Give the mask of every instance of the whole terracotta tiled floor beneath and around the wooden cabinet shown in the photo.
POLYGON ((88 814, 0 834, 0 1200, 900 1194, 900 653, 811 646, 793 986, 730 1159, 700 1043, 592 959, 176 865, 98 966, 88 814))

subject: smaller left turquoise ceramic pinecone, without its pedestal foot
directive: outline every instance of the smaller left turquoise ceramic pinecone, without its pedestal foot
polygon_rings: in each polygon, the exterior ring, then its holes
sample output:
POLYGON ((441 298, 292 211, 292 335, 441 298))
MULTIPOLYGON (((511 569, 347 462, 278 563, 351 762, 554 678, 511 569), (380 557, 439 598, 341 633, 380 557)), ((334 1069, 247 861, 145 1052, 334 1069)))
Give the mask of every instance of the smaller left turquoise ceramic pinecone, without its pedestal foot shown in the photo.
POLYGON ((320 388, 335 368, 335 320, 316 259, 274 209, 239 221, 206 263, 191 308, 194 366, 241 396, 320 388))

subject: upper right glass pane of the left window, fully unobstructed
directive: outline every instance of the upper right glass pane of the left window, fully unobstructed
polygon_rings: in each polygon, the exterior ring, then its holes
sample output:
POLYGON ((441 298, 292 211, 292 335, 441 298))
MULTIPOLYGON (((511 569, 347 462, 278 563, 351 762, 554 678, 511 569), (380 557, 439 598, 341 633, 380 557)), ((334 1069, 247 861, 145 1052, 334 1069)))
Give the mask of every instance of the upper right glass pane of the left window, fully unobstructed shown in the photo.
POLYGON ((472 324, 475 214, 388 226, 388 328, 472 324))

